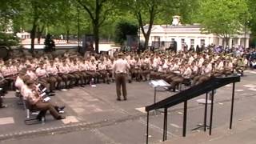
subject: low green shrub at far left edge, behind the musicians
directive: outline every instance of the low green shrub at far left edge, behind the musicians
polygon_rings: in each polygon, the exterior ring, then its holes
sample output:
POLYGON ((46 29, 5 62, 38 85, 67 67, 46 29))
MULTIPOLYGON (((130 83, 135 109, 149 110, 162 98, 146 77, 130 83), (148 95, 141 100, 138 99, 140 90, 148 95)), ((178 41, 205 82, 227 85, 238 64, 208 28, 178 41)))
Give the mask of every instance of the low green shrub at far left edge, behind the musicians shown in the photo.
POLYGON ((18 46, 18 42, 13 34, 0 33, 0 46, 18 46))

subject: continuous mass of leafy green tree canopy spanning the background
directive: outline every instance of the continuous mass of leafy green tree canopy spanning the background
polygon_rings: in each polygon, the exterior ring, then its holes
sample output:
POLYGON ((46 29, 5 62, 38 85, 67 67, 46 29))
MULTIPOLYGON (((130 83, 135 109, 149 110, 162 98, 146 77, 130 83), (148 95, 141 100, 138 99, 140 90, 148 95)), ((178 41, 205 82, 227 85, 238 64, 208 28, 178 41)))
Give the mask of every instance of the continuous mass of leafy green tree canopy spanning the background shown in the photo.
POLYGON ((173 15, 182 23, 202 23, 202 31, 230 38, 242 30, 245 15, 248 26, 256 34, 256 2, 254 0, 11 0, 0 1, 0 31, 10 19, 14 32, 30 32, 34 39, 50 33, 64 35, 94 34, 96 51, 100 38, 114 40, 120 22, 138 26, 148 46, 154 24, 170 24, 173 15), (78 18, 79 15, 79 18, 78 18), (144 26, 146 26, 144 29, 144 26))

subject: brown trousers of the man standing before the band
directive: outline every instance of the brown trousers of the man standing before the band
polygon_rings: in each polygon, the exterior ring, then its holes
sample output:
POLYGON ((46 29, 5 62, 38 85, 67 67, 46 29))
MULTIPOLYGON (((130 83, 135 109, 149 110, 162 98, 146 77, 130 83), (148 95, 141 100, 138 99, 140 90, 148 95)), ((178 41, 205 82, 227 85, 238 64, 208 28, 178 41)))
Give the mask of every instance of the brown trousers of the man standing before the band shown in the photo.
POLYGON ((126 74, 115 74, 115 84, 116 84, 118 99, 121 98, 121 86, 122 86, 122 96, 123 98, 127 98, 126 74))

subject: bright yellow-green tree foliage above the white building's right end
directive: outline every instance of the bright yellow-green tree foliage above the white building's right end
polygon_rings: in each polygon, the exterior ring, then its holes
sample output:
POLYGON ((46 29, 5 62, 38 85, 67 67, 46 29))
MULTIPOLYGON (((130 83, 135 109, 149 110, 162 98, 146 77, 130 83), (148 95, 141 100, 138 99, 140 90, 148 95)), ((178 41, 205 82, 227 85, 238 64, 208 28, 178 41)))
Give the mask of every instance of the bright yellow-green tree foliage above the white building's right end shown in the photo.
POLYGON ((246 0, 205 0, 201 1, 197 19, 203 32, 230 38, 244 27, 247 10, 246 0))

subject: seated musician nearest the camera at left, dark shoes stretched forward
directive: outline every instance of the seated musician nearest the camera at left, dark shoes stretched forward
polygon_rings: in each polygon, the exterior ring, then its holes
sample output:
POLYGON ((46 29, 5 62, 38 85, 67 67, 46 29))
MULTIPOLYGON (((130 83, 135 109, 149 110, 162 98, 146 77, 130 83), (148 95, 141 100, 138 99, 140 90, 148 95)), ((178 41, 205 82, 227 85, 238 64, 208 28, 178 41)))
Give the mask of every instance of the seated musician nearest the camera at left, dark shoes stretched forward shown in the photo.
POLYGON ((28 80, 26 85, 27 95, 24 97, 24 99, 30 103, 32 109, 40 110, 40 113, 37 116, 38 120, 41 120, 42 116, 44 116, 48 110, 50 111, 50 114, 57 120, 65 118, 61 114, 58 114, 58 106, 54 106, 50 102, 43 102, 40 94, 38 94, 38 91, 36 90, 37 87, 35 86, 33 80, 28 80))

